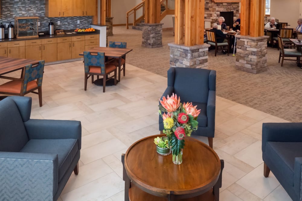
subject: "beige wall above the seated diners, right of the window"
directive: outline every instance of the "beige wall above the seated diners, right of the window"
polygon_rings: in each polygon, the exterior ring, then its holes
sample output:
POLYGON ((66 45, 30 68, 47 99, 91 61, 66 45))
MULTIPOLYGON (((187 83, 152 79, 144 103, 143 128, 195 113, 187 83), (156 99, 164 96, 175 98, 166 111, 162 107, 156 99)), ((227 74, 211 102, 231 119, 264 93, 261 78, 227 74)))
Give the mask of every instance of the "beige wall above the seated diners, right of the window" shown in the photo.
POLYGON ((271 17, 279 22, 287 22, 288 28, 297 27, 297 19, 300 14, 300 1, 298 0, 271 0, 271 17))

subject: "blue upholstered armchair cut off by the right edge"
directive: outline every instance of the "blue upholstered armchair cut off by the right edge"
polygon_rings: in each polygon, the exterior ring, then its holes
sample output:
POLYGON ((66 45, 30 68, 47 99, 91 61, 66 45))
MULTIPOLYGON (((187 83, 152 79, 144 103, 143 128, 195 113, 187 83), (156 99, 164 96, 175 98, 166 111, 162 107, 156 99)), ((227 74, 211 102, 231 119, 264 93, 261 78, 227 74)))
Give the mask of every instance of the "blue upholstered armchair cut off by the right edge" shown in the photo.
POLYGON ((272 171, 294 201, 301 200, 302 123, 263 123, 264 176, 272 171))

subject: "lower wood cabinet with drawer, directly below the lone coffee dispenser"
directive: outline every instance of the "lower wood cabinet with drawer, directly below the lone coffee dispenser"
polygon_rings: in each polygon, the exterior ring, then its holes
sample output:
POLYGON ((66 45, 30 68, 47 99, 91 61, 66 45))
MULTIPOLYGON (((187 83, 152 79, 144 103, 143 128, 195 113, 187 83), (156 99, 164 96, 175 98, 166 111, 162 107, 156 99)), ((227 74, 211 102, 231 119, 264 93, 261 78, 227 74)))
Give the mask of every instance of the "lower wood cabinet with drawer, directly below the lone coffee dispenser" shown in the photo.
POLYGON ((57 39, 42 40, 42 59, 45 62, 57 61, 57 39))

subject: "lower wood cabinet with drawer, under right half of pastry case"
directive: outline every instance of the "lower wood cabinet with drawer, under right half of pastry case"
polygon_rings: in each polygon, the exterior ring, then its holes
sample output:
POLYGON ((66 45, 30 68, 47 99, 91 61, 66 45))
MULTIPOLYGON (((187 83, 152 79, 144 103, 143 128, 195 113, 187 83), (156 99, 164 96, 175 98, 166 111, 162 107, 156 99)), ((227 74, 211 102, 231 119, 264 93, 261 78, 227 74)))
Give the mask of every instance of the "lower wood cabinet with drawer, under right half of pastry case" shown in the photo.
POLYGON ((26 40, 25 41, 25 58, 33 60, 42 59, 42 40, 26 40))

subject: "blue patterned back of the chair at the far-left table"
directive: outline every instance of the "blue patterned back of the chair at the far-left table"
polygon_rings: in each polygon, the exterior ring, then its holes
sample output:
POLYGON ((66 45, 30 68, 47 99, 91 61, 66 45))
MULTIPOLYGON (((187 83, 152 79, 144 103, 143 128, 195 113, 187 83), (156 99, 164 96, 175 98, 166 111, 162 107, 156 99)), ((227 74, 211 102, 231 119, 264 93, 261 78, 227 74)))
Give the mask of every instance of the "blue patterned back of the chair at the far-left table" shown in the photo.
POLYGON ((25 71, 23 75, 23 93, 27 91, 27 84, 33 80, 37 80, 37 85, 42 86, 44 62, 44 60, 41 60, 37 63, 28 64, 25 66, 25 71))

